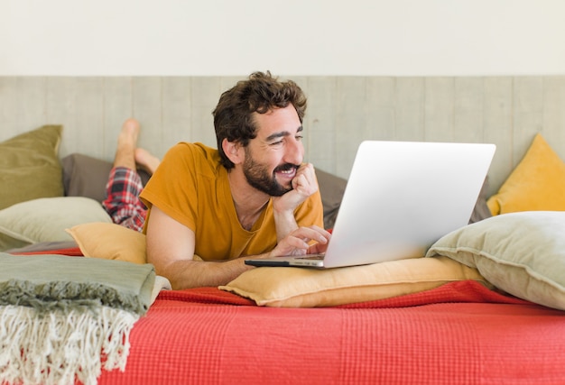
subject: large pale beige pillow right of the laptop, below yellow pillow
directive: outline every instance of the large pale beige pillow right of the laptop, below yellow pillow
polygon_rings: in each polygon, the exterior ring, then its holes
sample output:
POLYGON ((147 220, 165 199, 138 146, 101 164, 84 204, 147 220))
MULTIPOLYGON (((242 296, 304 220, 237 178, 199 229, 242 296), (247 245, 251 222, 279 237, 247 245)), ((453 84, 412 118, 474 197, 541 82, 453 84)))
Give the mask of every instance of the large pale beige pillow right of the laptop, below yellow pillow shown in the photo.
POLYGON ((440 238, 427 253, 477 268, 518 298, 565 310, 565 212, 497 215, 440 238))

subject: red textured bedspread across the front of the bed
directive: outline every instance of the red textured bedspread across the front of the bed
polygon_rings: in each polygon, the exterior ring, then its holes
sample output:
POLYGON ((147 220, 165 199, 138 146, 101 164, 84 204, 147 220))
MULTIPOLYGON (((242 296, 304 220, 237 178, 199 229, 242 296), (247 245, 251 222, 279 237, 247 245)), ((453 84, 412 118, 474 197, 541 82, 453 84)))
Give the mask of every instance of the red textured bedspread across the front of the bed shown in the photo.
POLYGON ((564 316, 471 281, 331 308, 168 291, 100 384, 565 383, 564 316))

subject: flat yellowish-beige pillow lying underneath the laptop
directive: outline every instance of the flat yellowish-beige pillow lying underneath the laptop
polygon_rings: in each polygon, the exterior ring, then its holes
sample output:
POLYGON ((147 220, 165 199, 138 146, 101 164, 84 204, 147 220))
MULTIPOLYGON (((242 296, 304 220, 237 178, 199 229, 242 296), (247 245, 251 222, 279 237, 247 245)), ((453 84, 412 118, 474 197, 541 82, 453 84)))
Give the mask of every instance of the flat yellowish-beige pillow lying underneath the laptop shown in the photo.
POLYGON ((328 270, 262 267, 245 271, 219 289, 267 307, 331 307, 478 280, 477 270, 449 258, 415 258, 328 270))

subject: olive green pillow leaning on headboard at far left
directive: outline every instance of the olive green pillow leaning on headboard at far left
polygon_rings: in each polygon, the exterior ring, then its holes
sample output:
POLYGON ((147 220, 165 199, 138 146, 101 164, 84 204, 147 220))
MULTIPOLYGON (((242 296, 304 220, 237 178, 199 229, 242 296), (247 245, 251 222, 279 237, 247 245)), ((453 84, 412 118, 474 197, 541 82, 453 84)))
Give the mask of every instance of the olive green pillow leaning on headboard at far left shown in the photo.
POLYGON ((0 209, 40 197, 62 197, 61 125, 44 125, 0 142, 0 209))

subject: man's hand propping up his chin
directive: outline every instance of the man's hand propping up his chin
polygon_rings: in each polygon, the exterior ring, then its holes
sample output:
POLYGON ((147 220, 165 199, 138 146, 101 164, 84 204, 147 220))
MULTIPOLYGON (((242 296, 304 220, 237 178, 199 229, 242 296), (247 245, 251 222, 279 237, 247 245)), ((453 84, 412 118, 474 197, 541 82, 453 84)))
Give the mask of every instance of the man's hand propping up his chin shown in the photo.
POLYGON ((314 166, 311 163, 304 163, 292 179, 292 190, 282 197, 273 197, 273 209, 279 213, 292 212, 316 191, 318 191, 318 179, 314 166))

